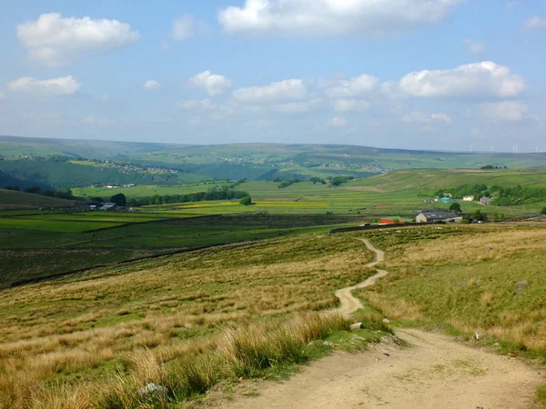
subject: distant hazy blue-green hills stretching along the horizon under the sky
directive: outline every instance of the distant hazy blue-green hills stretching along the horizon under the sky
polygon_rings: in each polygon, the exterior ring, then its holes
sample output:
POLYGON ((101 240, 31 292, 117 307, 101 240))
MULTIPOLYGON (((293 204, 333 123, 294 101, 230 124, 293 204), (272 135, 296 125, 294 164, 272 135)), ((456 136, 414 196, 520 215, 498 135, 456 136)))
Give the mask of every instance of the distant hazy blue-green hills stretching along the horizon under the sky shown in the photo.
POLYGON ((546 154, 427 152, 357 145, 175 145, 0 136, 0 155, 73 158, 162 165, 211 178, 273 179, 278 175, 354 175, 390 169, 483 165, 545 168, 546 154))

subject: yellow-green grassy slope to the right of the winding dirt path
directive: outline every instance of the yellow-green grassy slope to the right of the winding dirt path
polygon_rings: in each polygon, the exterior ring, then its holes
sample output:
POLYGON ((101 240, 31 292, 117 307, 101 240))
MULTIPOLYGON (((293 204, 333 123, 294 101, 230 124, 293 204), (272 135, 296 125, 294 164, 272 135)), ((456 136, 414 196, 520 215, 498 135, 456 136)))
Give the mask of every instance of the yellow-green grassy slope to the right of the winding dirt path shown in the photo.
POLYGON ((408 236, 420 232, 410 231, 399 234, 402 244, 390 237, 391 274, 360 294, 387 316, 446 322, 546 359, 546 229, 440 228, 449 234, 432 241, 412 241, 408 236))

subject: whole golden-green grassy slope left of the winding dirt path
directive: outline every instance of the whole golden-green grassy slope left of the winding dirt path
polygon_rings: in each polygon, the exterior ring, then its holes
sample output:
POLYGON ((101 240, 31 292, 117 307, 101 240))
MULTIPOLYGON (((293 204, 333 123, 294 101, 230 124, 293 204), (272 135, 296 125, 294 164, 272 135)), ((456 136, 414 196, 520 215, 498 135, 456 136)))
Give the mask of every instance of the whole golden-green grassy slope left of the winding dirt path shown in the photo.
MULTIPOLYGON (((66 407, 142 407, 153 403, 137 387, 150 382, 169 390, 157 407, 176 407, 222 379, 278 374, 287 364, 329 351, 309 341, 347 336, 346 321, 308 314, 336 305, 334 290, 369 276, 364 265, 370 258, 353 237, 308 235, 4 290, 0 407, 49 407, 53 400, 66 407), (278 333, 282 328, 303 338, 278 333), (288 344, 276 352, 266 334, 288 344), (258 365, 253 347, 237 352, 238 343, 253 339, 269 348, 260 354, 270 358, 258 365), (214 353, 217 348, 225 352, 214 353)), ((357 334, 365 343, 377 340, 381 328, 370 322, 357 334)))

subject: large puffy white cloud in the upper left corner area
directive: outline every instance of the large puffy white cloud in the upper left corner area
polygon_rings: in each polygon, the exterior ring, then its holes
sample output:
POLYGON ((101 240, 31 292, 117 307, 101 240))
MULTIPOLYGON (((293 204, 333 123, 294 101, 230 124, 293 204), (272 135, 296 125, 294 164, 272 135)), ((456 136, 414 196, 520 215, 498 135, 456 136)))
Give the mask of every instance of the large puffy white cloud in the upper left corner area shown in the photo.
POLYGON ((86 53, 105 53, 134 44, 140 34, 117 20, 63 18, 50 13, 17 25, 17 37, 28 48, 31 60, 60 66, 72 64, 86 53))

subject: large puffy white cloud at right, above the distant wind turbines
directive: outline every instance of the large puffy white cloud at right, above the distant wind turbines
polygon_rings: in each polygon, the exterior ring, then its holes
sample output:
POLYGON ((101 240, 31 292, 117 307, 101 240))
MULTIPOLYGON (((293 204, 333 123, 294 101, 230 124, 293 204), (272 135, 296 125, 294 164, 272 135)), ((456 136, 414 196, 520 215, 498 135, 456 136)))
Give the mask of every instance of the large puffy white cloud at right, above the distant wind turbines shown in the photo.
POLYGON ((506 98, 520 95, 525 82, 507 66, 490 61, 460 65, 450 70, 424 70, 404 76, 398 84, 382 85, 389 96, 446 98, 506 98))

